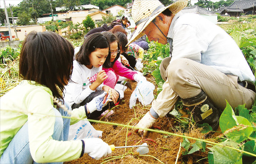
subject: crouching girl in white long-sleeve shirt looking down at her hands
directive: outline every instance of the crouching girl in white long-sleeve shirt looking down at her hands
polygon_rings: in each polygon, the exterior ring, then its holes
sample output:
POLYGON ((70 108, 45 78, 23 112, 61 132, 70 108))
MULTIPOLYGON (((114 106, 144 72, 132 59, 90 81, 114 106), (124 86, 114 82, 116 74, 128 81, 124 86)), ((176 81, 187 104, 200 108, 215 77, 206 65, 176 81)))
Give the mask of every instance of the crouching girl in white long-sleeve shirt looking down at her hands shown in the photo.
MULTIPOLYGON (((89 35, 79 52, 74 57, 74 68, 71 76, 71 82, 65 87, 65 101, 69 102, 72 109, 86 105, 95 96, 105 92, 111 92, 113 102, 110 106, 114 106, 119 101, 119 93, 107 85, 103 85, 103 81, 108 78, 106 72, 102 71, 103 63, 110 65, 110 52, 108 39, 101 33, 89 35), (101 91, 103 90, 103 91, 101 91)), ((101 114, 108 110, 108 105, 102 110, 86 113, 88 118, 98 118, 101 114)), ((104 113, 103 113, 104 115, 104 113)))

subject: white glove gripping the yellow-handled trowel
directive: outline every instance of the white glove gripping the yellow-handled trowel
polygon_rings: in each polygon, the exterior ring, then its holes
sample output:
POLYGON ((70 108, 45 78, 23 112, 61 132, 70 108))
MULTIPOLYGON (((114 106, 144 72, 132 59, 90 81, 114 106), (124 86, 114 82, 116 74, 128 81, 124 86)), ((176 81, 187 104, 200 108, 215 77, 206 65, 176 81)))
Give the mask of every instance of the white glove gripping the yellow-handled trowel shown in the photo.
POLYGON ((101 138, 84 138, 84 154, 88 155, 94 159, 100 159, 101 157, 106 157, 111 154, 111 148, 107 143, 102 141, 101 138))

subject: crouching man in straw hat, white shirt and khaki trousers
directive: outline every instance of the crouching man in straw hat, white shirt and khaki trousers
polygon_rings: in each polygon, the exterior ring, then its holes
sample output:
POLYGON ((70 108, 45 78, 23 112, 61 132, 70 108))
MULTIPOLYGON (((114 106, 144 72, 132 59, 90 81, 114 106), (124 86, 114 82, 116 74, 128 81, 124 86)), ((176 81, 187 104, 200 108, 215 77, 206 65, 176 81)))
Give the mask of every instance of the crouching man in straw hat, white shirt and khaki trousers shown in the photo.
MULTIPOLYGON (((169 43, 170 57, 160 70, 166 82, 150 111, 136 125, 150 128, 182 99, 198 124, 219 126, 226 100, 233 109, 255 100, 255 76, 235 41, 219 26, 194 13, 182 13, 187 0, 164 7, 159 0, 135 0, 132 17, 137 30, 129 43, 146 34, 148 40, 169 43)), ((128 44, 129 44, 128 43, 128 44)), ((139 130, 143 136, 147 131, 139 130)))

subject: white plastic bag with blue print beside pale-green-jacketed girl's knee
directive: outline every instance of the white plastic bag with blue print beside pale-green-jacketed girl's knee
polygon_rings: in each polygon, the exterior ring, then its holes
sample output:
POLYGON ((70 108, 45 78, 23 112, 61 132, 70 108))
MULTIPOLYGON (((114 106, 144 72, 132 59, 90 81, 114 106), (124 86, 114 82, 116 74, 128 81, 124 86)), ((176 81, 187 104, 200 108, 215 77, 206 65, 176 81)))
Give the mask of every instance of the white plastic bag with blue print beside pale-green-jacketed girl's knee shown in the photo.
POLYGON ((87 118, 69 126, 68 141, 101 137, 102 131, 95 130, 87 118))

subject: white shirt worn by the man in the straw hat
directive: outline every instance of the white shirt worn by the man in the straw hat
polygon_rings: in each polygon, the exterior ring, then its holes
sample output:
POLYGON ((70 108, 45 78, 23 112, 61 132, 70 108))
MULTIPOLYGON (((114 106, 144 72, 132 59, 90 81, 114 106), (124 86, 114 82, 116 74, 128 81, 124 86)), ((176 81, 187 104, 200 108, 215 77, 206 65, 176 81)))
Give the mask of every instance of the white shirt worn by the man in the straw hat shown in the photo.
POLYGON ((171 62, 187 58, 224 73, 238 76, 240 81, 255 81, 255 77, 228 33, 209 20, 194 13, 177 13, 167 35, 171 62))

